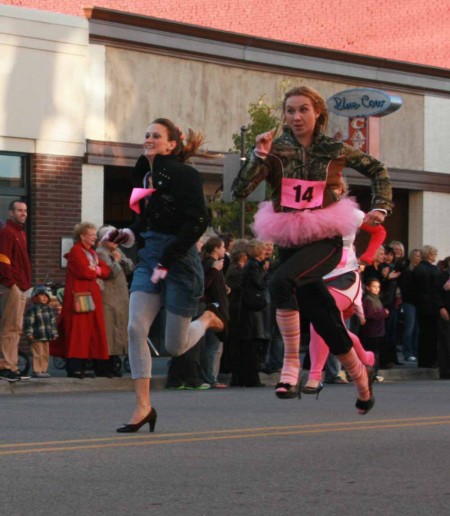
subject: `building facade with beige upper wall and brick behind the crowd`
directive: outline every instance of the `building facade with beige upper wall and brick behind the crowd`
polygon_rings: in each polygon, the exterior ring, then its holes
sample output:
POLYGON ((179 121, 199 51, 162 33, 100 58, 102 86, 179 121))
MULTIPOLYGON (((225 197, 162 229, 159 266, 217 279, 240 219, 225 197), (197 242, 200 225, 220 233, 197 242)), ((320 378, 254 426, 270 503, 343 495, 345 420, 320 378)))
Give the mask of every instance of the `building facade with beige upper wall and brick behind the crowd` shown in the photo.
MULTIPOLYGON (((12 198, 29 202, 34 281, 47 274, 64 278, 61 238, 80 220, 126 225, 128 176, 151 119, 168 116, 183 128, 203 129, 209 150, 226 153, 232 134, 248 121, 249 103, 262 94, 276 100, 283 81, 307 82, 326 98, 351 87, 403 98, 402 108, 379 123, 380 158, 396 189, 388 237, 400 236, 409 247, 433 243, 440 254, 450 254, 447 235, 436 233, 450 216, 450 52, 439 30, 448 20, 445 5, 424 5, 428 14, 404 38, 409 44, 385 47, 383 37, 374 35, 387 31, 394 16, 375 24, 369 12, 367 23, 360 20, 358 34, 351 35, 342 30, 351 20, 345 10, 349 19, 329 13, 327 30, 313 16, 294 34, 305 20, 286 23, 283 1, 262 7, 258 19, 233 0, 219 11, 205 3, 203 17, 197 4, 176 3, 175 9, 172 0, 136 1, 133 13, 110 10, 122 6, 114 1, 86 10, 66 1, 0 6, 0 218, 12 198), (431 30, 423 23, 429 14, 439 22, 427 37, 419 27, 431 30), (307 33, 309 39, 302 39, 307 33), (344 33, 347 42, 339 39, 344 33), (22 160, 19 173, 9 158, 22 160)), ((311 12, 319 12, 321 3, 311 12)), ((419 3, 408 5, 408 12, 422 13, 419 3)), ((205 193, 212 195, 220 188, 223 163, 197 166, 205 193)), ((357 174, 348 177, 364 205, 367 183, 357 174)))

